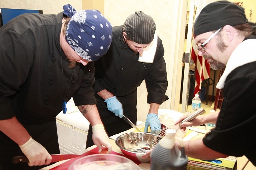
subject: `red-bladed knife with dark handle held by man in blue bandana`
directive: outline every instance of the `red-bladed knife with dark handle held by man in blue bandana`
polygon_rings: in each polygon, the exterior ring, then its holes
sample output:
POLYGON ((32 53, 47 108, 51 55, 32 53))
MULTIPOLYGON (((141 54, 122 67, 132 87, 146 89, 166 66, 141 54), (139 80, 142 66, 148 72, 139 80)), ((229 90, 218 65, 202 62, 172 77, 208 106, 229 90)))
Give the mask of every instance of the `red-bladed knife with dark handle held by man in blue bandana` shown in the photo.
MULTIPOLYGON (((52 161, 51 162, 59 162, 59 161, 62 161, 62 160, 75 158, 75 157, 78 157, 80 155, 76 155, 76 154, 55 154, 55 155, 51 155, 51 156, 52 156, 52 161)), ((26 156, 15 156, 15 157, 12 158, 12 163, 18 164, 20 162, 29 162, 29 161, 28 161, 28 158, 26 156)))

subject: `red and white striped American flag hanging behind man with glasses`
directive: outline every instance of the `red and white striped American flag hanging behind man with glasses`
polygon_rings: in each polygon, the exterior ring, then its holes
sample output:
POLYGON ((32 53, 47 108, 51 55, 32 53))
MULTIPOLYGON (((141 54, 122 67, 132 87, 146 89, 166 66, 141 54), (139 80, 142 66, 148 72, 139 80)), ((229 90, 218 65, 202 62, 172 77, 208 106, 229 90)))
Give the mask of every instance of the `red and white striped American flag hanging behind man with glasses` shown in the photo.
POLYGON ((206 60, 198 55, 197 45, 195 42, 195 37, 193 36, 192 40, 192 51, 191 57, 195 62, 196 70, 195 70, 195 90, 194 96, 201 90, 201 83, 203 80, 208 79, 210 77, 210 64, 206 62, 206 60))

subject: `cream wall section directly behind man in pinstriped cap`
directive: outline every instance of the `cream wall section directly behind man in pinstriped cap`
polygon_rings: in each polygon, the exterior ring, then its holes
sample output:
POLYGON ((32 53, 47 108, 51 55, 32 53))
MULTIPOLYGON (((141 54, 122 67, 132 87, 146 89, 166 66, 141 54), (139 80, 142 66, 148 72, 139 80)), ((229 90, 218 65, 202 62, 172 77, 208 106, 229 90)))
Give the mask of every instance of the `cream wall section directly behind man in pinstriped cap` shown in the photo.
MULTIPOLYGON (((104 16, 109 19, 113 26, 123 25, 125 19, 133 14, 135 11, 142 10, 153 17, 156 23, 156 33, 162 39, 163 46, 165 49, 164 59, 167 65, 167 76, 168 76, 168 89, 166 95, 170 98, 171 85, 172 85, 172 73, 173 73, 173 62, 174 52, 170 50, 171 44, 171 30, 173 25, 173 14, 174 0, 105 0, 104 1, 104 16)), ((175 37, 174 37, 175 38, 175 37)), ((146 115, 149 111, 150 104, 147 104, 147 90, 145 82, 137 89, 138 102, 138 120, 145 121, 146 115)), ((165 101, 160 108, 169 109, 170 99, 165 101)))

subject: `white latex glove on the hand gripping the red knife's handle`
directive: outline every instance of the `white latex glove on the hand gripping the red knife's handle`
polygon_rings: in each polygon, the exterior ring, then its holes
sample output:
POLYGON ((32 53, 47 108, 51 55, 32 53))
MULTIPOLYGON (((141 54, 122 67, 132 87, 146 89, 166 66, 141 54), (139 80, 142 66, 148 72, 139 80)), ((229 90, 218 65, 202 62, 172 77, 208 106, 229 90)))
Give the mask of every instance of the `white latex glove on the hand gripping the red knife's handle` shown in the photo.
POLYGON ((32 139, 31 136, 20 148, 23 154, 28 158, 29 166, 48 165, 52 161, 52 157, 47 150, 40 143, 32 139))

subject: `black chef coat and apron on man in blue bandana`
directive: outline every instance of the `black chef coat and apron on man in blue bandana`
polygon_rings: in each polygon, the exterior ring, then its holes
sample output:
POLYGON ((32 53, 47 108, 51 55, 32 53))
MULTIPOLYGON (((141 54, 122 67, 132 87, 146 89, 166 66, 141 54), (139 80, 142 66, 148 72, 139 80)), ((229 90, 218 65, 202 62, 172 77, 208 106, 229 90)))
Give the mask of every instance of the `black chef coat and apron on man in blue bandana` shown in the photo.
MULTIPOLYGON (((73 96, 76 105, 96 103, 94 63, 67 67, 62 15, 26 13, 0 28, 0 120, 16 116, 50 154, 59 153, 55 117, 62 102, 73 96)), ((17 154, 19 146, 1 132, 0 161, 9 163, 17 154)))

